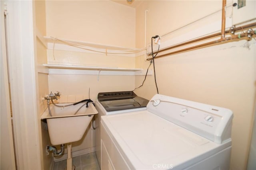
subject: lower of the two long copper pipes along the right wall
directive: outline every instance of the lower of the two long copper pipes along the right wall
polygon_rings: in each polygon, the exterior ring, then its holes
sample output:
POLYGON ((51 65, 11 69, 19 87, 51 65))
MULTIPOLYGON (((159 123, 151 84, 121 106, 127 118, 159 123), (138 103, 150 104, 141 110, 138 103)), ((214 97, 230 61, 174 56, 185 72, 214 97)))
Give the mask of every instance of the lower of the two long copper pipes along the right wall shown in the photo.
MULTIPOLYGON (((184 52, 184 51, 189 51, 189 50, 193 50, 193 49, 198 49, 198 48, 201 48, 201 47, 206 47, 208 45, 217 45, 218 43, 226 43, 228 41, 231 41, 231 40, 238 40, 238 39, 241 39, 243 37, 246 37, 246 33, 242 33, 242 34, 238 34, 238 35, 233 35, 231 37, 226 37, 224 39, 218 39, 216 41, 210 41, 208 43, 204 43, 204 44, 200 44, 200 45, 195 45, 193 47, 188 47, 186 49, 181 49, 181 50, 177 50, 177 51, 173 51, 173 52, 170 52, 170 53, 166 53, 166 54, 163 54, 163 55, 159 55, 159 56, 156 56, 154 57, 155 58, 160 58, 160 57, 164 57, 166 55, 173 55, 173 54, 177 54, 177 53, 181 53, 181 52, 184 52)), ((152 58, 150 59, 147 59, 147 60, 151 60, 152 58)))

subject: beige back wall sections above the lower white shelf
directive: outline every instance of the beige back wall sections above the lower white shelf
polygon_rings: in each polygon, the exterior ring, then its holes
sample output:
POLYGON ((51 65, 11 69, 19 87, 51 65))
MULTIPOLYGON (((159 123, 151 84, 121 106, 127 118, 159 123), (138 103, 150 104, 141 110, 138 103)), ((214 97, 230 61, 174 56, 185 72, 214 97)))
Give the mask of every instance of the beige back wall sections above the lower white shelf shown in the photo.
MULTIPOLYGON (((107 0, 46 1, 46 35, 118 47, 135 47, 135 10, 107 0)), ((53 41, 50 41, 53 43, 53 41)), ((134 57, 47 50, 48 63, 134 68, 134 57)), ((105 49, 104 49, 105 50, 105 49)))

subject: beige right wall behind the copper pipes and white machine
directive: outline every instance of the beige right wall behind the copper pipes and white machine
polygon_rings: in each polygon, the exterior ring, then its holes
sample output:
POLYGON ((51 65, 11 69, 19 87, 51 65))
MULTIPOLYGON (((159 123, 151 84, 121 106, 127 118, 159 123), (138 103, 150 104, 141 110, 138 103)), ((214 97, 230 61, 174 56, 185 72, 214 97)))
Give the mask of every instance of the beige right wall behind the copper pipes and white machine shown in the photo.
MULTIPOLYGON (((230 1, 227 4, 230 4, 230 1)), ((144 31, 145 10, 148 10, 146 25, 148 44, 150 37, 154 35, 164 35, 221 8, 220 0, 144 1, 136 8, 136 47, 144 47, 144 33, 141 32, 144 31)), ((221 13, 164 36, 163 43, 168 40, 170 45, 172 41, 177 43, 178 37, 190 32, 202 36, 201 31, 195 30, 218 20, 221 20, 221 13)), ((190 39, 190 36, 192 35, 188 35, 187 38, 190 39)), ((180 41, 185 40, 180 39, 180 41)), ((246 40, 226 43, 155 59, 156 80, 160 94, 226 107, 233 111, 231 155, 233 170, 246 169, 255 98, 255 40, 248 42, 250 48, 244 47, 245 43, 246 40)), ((147 68, 148 65, 149 62, 144 61, 144 56, 136 59, 137 67, 147 68)), ((137 76, 136 86, 139 86, 143 79, 144 76, 137 76)), ((136 90, 136 93, 148 99, 156 94, 154 76, 148 76, 144 86, 136 90)))

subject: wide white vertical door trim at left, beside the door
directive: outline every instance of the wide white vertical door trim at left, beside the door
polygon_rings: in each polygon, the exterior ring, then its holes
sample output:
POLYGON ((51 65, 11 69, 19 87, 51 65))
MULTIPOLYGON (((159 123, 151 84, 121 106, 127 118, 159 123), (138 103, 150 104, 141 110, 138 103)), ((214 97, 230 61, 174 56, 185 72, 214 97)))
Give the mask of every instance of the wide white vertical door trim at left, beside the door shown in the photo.
POLYGON ((6 1, 8 56, 16 164, 40 170, 40 137, 34 51, 33 2, 6 1))

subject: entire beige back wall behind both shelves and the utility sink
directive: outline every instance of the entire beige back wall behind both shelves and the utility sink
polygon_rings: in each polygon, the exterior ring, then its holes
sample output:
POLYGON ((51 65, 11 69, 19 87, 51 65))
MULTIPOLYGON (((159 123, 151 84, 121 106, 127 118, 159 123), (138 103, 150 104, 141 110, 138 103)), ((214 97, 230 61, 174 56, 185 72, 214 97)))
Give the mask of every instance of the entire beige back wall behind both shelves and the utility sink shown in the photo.
MULTIPOLYGON (((135 47, 135 9, 111 1, 46 1, 46 35, 75 41, 119 47, 135 47)), ((52 41, 48 41, 52 43, 52 41)), ((47 62, 86 66, 134 68, 135 57, 94 52, 68 51, 56 41, 47 50, 47 62)), ((46 63, 46 62, 45 62, 46 63)), ((72 71, 71 71, 72 72, 72 71)), ((134 76, 49 74, 49 91, 60 91, 60 102, 67 98, 96 100, 99 92, 133 90, 134 76)), ((69 102, 72 102, 69 100, 69 102)), ((91 151, 96 145, 91 126, 84 137, 72 143, 73 156, 91 151)), ((64 157, 63 157, 64 158, 64 157)), ((60 158, 62 159, 62 158, 60 158)))

